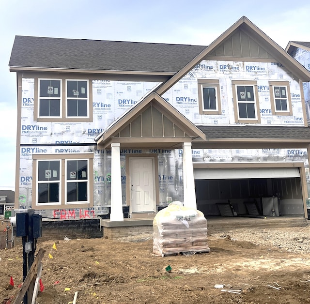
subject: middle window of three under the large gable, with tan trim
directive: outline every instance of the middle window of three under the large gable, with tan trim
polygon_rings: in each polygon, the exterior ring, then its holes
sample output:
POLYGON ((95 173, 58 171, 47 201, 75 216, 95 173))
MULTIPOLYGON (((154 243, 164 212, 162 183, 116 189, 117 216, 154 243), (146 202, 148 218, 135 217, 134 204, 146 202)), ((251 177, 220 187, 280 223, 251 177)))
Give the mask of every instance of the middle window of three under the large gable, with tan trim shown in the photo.
POLYGON ((233 80, 235 122, 260 123, 257 82, 233 80))

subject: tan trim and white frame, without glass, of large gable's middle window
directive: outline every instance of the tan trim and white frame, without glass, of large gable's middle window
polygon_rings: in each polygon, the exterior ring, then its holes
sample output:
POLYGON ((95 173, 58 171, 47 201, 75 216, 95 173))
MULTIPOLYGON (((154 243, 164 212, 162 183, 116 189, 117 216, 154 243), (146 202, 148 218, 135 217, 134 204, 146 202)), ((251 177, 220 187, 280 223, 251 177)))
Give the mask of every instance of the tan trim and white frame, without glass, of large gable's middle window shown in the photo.
POLYGON ((234 118, 236 123, 261 123, 260 117, 260 106, 257 90, 257 81, 252 80, 232 80, 232 91, 233 91, 233 109, 234 109, 234 118), (254 104, 255 118, 240 118, 239 115, 239 103, 244 103, 244 101, 239 101, 237 98, 237 87, 253 87, 254 101, 248 101, 246 103, 254 104))

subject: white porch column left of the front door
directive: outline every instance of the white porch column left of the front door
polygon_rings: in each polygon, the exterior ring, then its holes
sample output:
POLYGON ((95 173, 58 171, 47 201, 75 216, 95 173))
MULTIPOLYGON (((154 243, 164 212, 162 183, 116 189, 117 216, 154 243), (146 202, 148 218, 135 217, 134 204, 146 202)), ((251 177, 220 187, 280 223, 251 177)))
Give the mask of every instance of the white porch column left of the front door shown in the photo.
POLYGON ((111 144, 111 214, 110 221, 124 221, 121 181, 120 143, 111 144))

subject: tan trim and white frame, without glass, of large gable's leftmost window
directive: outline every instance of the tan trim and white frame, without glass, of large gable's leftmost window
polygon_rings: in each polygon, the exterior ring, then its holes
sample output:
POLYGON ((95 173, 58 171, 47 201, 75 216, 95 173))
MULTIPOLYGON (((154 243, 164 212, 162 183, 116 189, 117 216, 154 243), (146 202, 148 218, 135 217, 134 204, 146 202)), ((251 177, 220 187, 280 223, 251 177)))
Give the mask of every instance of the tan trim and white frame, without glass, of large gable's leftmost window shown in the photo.
POLYGON ((221 98, 219 79, 198 79, 198 100, 199 100, 199 114, 204 115, 221 115, 221 98), (205 109, 203 100, 203 88, 214 88, 216 92, 216 109, 205 109))

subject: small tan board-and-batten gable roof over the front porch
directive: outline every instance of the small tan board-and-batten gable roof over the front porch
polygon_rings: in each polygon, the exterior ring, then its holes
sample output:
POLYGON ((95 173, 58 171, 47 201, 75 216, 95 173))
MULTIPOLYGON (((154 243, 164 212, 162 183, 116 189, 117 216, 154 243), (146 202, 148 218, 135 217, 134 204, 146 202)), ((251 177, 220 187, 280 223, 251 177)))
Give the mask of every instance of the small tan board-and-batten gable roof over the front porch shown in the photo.
MULTIPOLYGON (((129 128, 131 127, 129 126, 129 128)), ((109 147, 114 139, 115 142, 120 142, 122 146, 158 147, 158 144, 160 144, 161 147, 175 148, 181 147, 184 141, 191 141, 193 138, 197 137, 205 140, 205 135, 198 127, 161 96, 155 92, 151 92, 99 134, 95 138, 95 141, 97 145, 103 145, 104 148, 109 147), (124 131, 130 123, 136 123, 137 119, 140 121, 140 117, 143 116, 143 113, 150 109, 150 107, 154 108, 154 113, 150 113, 149 120, 147 120, 147 124, 153 126, 153 130, 149 132, 150 134, 148 136, 142 136, 144 129, 141 124, 138 128, 140 130, 139 136, 132 136, 133 132, 131 129, 127 129, 127 132, 124 132, 125 136, 122 136, 122 131, 124 131), (157 129, 160 130, 159 132, 158 130, 154 130, 156 128, 153 123, 153 120, 155 120, 155 112, 160 116, 159 120, 161 125, 157 125, 157 129), (170 125, 171 130, 173 130, 169 135, 165 135, 165 124, 168 126, 170 125), (130 139, 130 141, 128 139, 130 139)))

